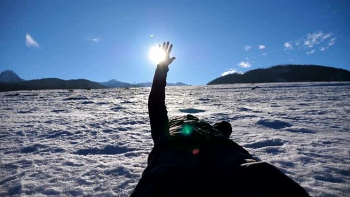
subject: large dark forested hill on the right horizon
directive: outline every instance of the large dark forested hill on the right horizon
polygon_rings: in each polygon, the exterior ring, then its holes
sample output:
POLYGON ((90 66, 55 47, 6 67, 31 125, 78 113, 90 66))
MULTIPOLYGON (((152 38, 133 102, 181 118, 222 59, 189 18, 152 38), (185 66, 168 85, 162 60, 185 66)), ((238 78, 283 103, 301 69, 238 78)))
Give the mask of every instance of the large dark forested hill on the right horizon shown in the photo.
POLYGON ((255 69, 244 74, 230 74, 208 83, 269 83, 302 81, 350 81, 350 72, 322 65, 275 65, 267 69, 255 69))

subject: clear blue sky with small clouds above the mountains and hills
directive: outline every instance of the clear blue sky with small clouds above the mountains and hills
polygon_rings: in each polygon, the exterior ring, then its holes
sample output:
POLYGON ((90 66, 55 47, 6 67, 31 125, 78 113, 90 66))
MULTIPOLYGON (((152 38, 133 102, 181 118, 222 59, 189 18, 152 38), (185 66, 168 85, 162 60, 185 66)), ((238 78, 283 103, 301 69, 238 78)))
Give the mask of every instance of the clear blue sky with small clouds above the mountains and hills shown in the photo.
POLYGON ((276 64, 350 70, 350 1, 0 1, 0 71, 21 78, 151 81, 151 46, 174 45, 168 82, 206 84, 276 64), (150 36, 154 35, 154 36, 150 36))

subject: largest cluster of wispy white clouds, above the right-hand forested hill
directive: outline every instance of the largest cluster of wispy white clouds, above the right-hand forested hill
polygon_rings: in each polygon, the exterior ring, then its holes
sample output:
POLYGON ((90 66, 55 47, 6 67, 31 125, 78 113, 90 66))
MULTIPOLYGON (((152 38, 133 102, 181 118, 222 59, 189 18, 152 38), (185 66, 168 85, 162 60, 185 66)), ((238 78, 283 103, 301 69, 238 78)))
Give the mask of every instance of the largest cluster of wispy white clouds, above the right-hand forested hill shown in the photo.
POLYGON ((325 51, 335 44, 337 37, 333 33, 323 33, 322 31, 316 31, 314 33, 308 33, 307 35, 295 40, 285 42, 284 50, 305 50, 306 54, 310 55, 316 52, 314 48, 319 48, 320 51, 325 51), (295 48, 294 48, 295 47, 295 48))

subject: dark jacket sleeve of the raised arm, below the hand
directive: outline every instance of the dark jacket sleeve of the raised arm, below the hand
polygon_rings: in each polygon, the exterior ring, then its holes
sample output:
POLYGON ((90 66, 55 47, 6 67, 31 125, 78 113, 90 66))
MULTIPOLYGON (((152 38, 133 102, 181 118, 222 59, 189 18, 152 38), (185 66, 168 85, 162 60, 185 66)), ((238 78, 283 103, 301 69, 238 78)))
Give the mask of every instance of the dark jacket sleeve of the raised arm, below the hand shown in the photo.
POLYGON ((148 113, 152 140, 156 141, 169 134, 168 112, 165 106, 165 86, 168 66, 157 65, 148 98, 148 113))

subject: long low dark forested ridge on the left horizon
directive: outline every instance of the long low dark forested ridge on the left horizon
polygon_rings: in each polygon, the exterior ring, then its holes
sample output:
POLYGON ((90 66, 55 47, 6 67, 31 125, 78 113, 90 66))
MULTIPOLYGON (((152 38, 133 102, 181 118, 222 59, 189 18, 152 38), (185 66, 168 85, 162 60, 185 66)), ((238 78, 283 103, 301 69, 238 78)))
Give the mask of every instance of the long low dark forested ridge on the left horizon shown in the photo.
POLYGON ((0 92, 17 90, 52 90, 52 89, 102 89, 107 88, 97 82, 86 79, 63 80, 57 78, 35 79, 22 82, 0 82, 0 92))

